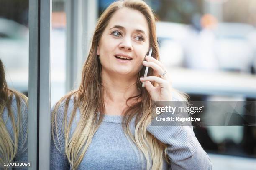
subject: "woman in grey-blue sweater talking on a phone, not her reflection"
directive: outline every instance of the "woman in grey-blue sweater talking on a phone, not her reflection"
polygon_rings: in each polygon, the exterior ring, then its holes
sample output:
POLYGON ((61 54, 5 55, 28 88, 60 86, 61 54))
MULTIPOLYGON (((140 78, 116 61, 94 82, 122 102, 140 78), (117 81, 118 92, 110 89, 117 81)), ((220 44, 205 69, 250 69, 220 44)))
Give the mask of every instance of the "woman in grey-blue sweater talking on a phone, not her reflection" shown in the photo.
POLYGON ((97 22, 79 89, 52 110, 51 169, 211 169, 192 127, 150 126, 153 101, 173 99, 164 70, 150 7, 112 3, 97 22), (150 47, 154 58, 143 61, 150 47), (143 65, 152 69, 140 78, 143 65))

